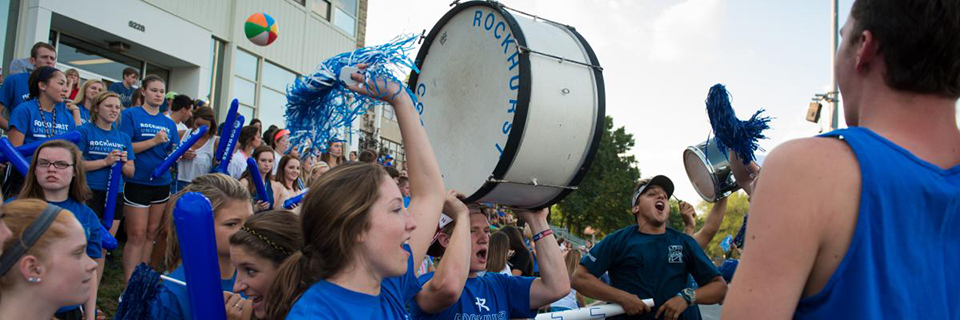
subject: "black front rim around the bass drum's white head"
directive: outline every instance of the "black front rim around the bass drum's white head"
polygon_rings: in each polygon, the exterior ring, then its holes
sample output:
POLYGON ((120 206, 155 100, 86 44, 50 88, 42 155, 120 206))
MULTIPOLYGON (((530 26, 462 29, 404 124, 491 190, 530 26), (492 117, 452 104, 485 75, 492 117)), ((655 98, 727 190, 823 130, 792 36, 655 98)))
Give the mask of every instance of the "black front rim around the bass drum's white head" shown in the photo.
MULTIPOLYGON (((469 1, 458 4, 450 11, 447 11, 433 25, 433 28, 430 29, 430 32, 427 34, 427 37, 423 40, 423 44, 420 46, 420 51, 417 53, 417 58, 414 60, 414 63, 417 65, 418 72, 410 73, 410 80, 407 82, 407 85, 410 88, 417 87, 417 81, 420 79, 420 71, 423 67, 424 58, 430 53, 430 47, 433 45, 434 39, 437 38, 440 33, 440 29, 443 26, 446 26, 450 19, 453 19, 454 16, 460 12, 474 7, 474 6, 485 6, 493 9, 500 13, 503 16, 504 21, 507 23, 507 26, 510 27, 510 31, 513 33, 513 37, 516 41, 514 45, 527 45, 527 39, 523 34, 523 29, 520 28, 520 24, 517 23, 517 20, 513 17, 512 14, 507 12, 500 6, 494 5, 486 1, 469 1)), ((510 171, 510 167, 513 166, 513 162, 517 157, 517 152, 520 149, 520 142, 523 139, 523 132, 526 129, 527 124, 527 108, 530 105, 530 56, 521 54, 520 57, 520 88, 517 91, 517 110, 513 116, 513 127, 510 129, 510 134, 507 136, 507 143, 503 147, 503 153, 500 155, 500 160, 497 161, 496 167, 493 169, 493 174, 491 178, 494 179, 503 179, 503 177, 510 171)), ((476 192, 467 196, 464 199, 464 202, 474 202, 479 200, 493 191, 493 189, 499 185, 496 182, 486 181, 477 189, 476 192)))

